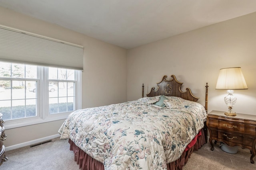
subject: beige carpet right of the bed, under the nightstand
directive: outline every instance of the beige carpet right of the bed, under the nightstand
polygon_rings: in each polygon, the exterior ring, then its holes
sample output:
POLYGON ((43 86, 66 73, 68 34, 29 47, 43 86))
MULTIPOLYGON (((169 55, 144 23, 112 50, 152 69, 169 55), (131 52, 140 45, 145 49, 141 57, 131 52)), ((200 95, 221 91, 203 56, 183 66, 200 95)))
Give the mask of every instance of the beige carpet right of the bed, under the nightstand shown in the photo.
MULTIPOLYGON (((230 154, 220 149, 219 143, 210 150, 210 143, 194 151, 183 170, 256 170, 250 162, 250 150, 238 148, 238 153, 230 154)), ((256 157, 253 159, 256 162, 256 157)))

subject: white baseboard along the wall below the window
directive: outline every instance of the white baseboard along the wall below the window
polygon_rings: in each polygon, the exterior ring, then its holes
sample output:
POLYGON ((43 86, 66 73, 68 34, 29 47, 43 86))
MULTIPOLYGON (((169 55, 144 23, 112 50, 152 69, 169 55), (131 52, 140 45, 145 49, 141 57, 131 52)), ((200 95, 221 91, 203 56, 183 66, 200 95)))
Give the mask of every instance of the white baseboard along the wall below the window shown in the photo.
POLYGON ((13 150, 13 149, 18 149, 18 148, 21 148, 21 147, 26 147, 26 146, 33 145, 33 144, 36 144, 36 143, 48 141, 48 140, 54 139, 56 137, 60 137, 60 134, 51 135, 51 136, 48 136, 48 137, 43 137, 43 138, 40 138, 40 139, 36 139, 36 140, 33 140, 33 141, 28 141, 28 142, 20 143, 20 144, 17 144, 17 145, 12 145, 10 147, 6 147, 5 151, 13 150))

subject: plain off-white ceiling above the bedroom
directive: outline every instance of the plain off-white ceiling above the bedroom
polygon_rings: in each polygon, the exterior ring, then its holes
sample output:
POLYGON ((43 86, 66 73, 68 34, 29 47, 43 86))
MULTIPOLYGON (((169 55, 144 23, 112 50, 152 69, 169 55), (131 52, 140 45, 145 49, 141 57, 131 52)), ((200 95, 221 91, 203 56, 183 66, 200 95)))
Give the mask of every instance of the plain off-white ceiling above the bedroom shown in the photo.
POLYGON ((256 0, 0 0, 0 6, 125 49, 256 12, 256 0))

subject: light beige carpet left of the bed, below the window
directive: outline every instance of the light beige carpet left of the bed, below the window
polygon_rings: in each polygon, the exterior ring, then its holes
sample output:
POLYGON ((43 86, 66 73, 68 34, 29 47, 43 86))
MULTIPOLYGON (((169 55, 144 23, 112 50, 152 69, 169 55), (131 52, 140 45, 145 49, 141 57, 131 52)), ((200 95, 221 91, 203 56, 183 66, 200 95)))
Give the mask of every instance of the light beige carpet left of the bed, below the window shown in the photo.
POLYGON ((68 140, 55 138, 36 147, 10 150, 0 170, 79 170, 69 146, 68 140))

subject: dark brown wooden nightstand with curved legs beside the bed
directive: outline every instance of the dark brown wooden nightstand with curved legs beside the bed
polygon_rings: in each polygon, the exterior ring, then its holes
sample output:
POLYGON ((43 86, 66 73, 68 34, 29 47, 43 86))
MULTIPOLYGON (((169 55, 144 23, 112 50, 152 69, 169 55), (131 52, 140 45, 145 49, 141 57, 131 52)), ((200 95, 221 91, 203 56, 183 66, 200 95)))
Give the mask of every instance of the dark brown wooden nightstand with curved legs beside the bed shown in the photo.
POLYGON ((224 111, 211 111, 207 115, 206 125, 210 132, 209 142, 212 140, 223 142, 229 147, 242 147, 251 152, 250 161, 254 164, 256 155, 256 115, 236 113, 235 117, 224 115, 224 111))

